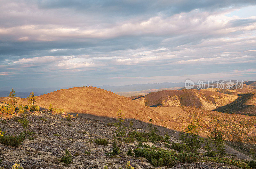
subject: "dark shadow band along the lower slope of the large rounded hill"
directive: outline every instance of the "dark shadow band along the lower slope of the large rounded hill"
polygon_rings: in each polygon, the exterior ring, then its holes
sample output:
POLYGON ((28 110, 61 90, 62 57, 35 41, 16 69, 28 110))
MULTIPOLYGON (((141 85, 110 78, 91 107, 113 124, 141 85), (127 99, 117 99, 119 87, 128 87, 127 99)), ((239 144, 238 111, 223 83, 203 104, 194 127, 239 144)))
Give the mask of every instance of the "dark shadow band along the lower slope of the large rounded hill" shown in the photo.
MULTIPOLYGON (((69 114, 76 116, 76 113, 69 113, 69 114)), ((99 121, 102 121, 104 123, 116 123, 116 119, 112 118, 112 117, 95 116, 95 115, 91 115, 91 114, 82 114, 82 113, 79 113, 78 116, 83 117, 83 118, 91 118, 91 119, 99 120, 99 121)), ((125 126, 126 127, 129 127, 130 121, 133 122, 133 128, 148 130, 148 123, 140 121, 140 120, 136 120, 136 119, 133 119, 133 118, 132 119, 125 119, 125 126)), ((179 138, 179 135, 180 135, 179 131, 167 129, 163 126, 158 126, 158 125, 153 125, 153 126, 157 128, 158 134, 160 134, 162 136, 164 135, 165 131, 167 131, 168 135, 172 135, 172 136, 176 137, 177 139, 179 138)))

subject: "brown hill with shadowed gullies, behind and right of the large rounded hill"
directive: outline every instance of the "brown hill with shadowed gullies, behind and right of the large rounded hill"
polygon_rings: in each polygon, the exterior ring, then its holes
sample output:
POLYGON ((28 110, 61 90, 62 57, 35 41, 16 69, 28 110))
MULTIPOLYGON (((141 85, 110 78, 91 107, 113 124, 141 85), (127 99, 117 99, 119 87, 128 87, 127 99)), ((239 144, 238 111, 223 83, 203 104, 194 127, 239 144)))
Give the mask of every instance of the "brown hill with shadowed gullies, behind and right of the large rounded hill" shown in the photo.
POLYGON ((193 106, 201 109, 212 110, 235 101, 239 96, 224 93, 182 89, 163 90, 151 92, 148 95, 136 99, 140 104, 147 106, 193 106))

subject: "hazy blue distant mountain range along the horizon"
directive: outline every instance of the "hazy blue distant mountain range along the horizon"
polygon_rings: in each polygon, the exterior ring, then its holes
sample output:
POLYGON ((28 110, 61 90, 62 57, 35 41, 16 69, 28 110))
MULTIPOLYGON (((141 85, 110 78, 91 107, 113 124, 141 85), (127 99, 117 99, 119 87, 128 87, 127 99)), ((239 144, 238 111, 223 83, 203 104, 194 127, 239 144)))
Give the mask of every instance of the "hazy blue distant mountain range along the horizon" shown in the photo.
MULTIPOLYGON (((33 91, 35 95, 44 95, 60 89, 68 89, 76 86, 69 86, 65 88, 14 88, 17 97, 28 97, 29 92, 33 91)), ((132 90, 147 90, 147 89, 157 89, 157 88, 174 88, 174 87, 184 87, 184 83, 148 83, 148 84, 133 84, 125 86, 94 86, 96 88, 102 88, 111 92, 127 92, 132 90)), ((12 87, 0 88, 0 97, 6 97, 10 94, 12 87)))

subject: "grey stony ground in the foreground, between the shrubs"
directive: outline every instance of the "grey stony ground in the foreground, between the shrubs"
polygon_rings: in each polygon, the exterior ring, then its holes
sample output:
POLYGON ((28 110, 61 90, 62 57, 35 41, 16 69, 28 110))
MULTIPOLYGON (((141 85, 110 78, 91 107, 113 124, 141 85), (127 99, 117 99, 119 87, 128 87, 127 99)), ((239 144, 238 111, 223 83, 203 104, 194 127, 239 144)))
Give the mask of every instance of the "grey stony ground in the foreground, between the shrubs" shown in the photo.
MULTIPOLYGON (((127 161, 131 161, 132 166, 138 168, 156 168, 147 162, 145 158, 128 156, 128 148, 135 149, 139 142, 125 144, 117 141, 122 150, 120 155, 108 157, 107 153, 112 149, 112 136, 116 128, 108 126, 107 123, 89 118, 71 116, 72 121, 67 122, 67 114, 48 111, 28 111, 29 130, 35 132, 31 137, 34 140, 25 139, 18 148, 11 146, 0 146, 0 158, 3 159, 0 166, 12 168, 14 163, 20 163, 24 168, 103 168, 107 165, 111 168, 125 168, 127 161), (43 119, 42 119, 43 118, 43 119), (71 126, 67 124, 71 123, 71 126), (60 136, 56 136, 60 135, 60 136), (55 136, 54 136, 55 135, 55 136), (105 138, 109 141, 107 146, 96 145, 93 139, 105 138), (73 163, 65 165, 59 159, 64 155, 65 150, 71 152, 73 163), (91 152, 91 155, 85 154, 91 152)), ((19 118, 20 114, 8 115, 0 113, 0 117, 7 122, 1 123, 0 128, 6 134, 19 135, 22 132, 19 118)), ((128 131, 146 132, 142 129, 128 129, 128 131)), ((175 137, 171 137, 172 142, 179 142, 175 137)), ((148 145, 152 143, 148 142, 148 145)), ((163 142, 157 142, 156 147, 163 147, 163 142)), ((203 152, 203 150, 200 150, 203 152)), ((199 155, 200 156, 200 155, 199 155)), ((161 168, 168 168, 161 166, 161 168)), ((196 163, 177 163, 171 168, 237 168, 232 165, 213 163, 199 160, 196 163)))

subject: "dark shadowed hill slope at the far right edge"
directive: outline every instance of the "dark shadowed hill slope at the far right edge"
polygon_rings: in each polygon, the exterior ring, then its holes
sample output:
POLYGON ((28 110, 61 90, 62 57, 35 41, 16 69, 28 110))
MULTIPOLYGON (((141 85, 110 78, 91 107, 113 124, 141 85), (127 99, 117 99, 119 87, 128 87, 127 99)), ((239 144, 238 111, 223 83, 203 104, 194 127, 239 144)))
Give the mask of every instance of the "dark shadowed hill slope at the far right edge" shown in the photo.
MULTIPOLYGON (((256 116, 256 109, 254 109, 254 113, 247 113, 247 110, 244 112, 245 109, 249 109, 250 107, 254 108, 255 105, 253 104, 245 104, 247 101, 249 101, 255 93, 247 93, 247 94, 238 94, 238 97, 234 102, 231 102, 227 105, 218 107, 217 109, 214 109, 213 111, 218 111, 222 113, 229 113, 229 114, 242 114, 242 115, 248 115, 248 116, 256 116)), ((252 109, 253 111, 253 109, 252 109)))

